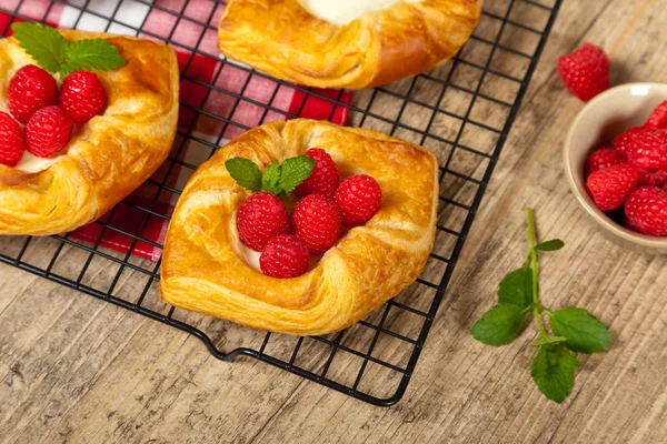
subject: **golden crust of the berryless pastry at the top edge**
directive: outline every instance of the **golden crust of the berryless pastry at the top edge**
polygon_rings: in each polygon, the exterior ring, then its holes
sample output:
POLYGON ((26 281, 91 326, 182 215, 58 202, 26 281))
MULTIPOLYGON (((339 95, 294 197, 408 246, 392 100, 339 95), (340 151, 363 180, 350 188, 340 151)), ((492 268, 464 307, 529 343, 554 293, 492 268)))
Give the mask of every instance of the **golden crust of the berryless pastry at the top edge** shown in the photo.
POLYGON ((428 71, 456 54, 477 26, 482 3, 401 2, 337 26, 311 16, 298 0, 230 0, 218 47, 232 60, 292 83, 371 88, 428 71))

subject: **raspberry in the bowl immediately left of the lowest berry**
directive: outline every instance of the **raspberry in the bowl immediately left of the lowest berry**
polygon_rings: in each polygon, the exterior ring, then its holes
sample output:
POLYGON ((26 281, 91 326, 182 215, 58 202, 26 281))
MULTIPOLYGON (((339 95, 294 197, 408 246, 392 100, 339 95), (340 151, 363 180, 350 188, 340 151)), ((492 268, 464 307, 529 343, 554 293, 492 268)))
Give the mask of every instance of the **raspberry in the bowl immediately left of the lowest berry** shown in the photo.
POLYGON ((586 180, 586 189, 595 204, 603 211, 616 210, 637 186, 641 172, 623 164, 594 171, 586 180))

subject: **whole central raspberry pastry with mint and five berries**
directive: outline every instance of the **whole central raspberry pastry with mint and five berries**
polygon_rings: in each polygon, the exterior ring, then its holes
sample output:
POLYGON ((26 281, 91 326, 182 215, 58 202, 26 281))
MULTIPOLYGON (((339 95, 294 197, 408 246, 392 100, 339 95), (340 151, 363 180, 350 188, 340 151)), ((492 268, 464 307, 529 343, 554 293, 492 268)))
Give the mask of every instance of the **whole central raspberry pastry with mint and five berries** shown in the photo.
POLYGON ((421 273, 435 240, 437 173, 428 151, 374 131, 303 119, 250 130, 186 185, 167 232, 160 297, 271 332, 342 330, 421 273), (292 191, 305 171, 317 180, 302 196, 292 191), (340 185, 321 194, 330 176, 340 185), (248 245, 261 249, 259 264, 248 245))

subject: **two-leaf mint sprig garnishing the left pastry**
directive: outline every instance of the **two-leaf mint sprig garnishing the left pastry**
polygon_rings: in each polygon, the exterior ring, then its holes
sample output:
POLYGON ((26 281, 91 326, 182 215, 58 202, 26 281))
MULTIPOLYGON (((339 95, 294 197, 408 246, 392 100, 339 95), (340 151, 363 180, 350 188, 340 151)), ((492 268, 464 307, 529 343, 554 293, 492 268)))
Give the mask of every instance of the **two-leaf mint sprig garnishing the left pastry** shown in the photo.
POLYGON ((19 46, 43 69, 66 75, 79 70, 113 70, 126 61, 118 48, 102 39, 69 43, 56 29, 40 23, 13 23, 19 46))

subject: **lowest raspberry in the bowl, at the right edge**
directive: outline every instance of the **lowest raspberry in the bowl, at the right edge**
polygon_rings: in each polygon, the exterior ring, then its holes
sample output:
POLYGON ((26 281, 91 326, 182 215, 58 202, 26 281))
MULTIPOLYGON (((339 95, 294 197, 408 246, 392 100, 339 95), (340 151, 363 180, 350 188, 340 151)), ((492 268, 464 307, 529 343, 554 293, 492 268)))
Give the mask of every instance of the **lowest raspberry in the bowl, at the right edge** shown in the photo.
POLYGON ((667 235, 667 191, 656 186, 635 190, 626 202, 626 223, 644 234, 667 235))

